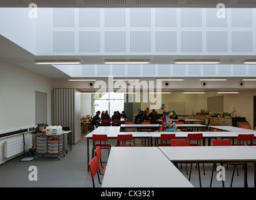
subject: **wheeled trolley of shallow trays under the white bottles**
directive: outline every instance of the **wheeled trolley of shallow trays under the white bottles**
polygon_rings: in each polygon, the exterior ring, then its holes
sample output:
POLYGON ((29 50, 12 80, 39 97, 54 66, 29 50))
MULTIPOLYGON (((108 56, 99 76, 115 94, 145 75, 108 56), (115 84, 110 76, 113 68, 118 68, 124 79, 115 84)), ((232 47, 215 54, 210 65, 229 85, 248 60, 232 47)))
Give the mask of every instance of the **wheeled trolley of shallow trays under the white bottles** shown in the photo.
POLYGON ((64 134, 56 136, 36 134, 36 158, 37 156, 56 155, 60 160, 60 155, 64 153, 64 134))

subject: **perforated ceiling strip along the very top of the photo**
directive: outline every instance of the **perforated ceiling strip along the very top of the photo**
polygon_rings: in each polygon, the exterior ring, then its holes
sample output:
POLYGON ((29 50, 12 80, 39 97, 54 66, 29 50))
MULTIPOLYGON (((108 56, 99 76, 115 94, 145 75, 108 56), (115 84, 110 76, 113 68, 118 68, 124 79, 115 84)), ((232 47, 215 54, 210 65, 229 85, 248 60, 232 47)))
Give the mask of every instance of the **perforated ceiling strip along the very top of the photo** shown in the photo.
POLYGON ((0 0, 3 8, 28 8, 35 3, 38 8, 256 8, 255 0, 0 0))

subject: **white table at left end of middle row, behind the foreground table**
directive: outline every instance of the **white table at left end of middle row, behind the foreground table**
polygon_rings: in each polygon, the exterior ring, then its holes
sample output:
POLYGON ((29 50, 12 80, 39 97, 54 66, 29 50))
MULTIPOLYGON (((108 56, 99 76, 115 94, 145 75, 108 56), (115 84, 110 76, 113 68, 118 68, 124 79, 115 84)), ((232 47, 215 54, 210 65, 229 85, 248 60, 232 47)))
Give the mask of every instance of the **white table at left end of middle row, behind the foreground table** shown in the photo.
MULTIPOLYGON (((89 157, 89 143, 90 139, 93 138, 93 134, 106 134, 109 139, 115 139, 119 134, 132 134, 133 138, 142 138, 148 139, 148 146, 150 146, 151 135, 148 132, 120 132, 120 126, 99 126, 91 133, 87 134, 85 138, 87 138, 87 161, 90 162, 89 157)), ((146 143, 145 143, 146 146, 146 143)), ((89 168, 88 168, 89 170, 89 168)))

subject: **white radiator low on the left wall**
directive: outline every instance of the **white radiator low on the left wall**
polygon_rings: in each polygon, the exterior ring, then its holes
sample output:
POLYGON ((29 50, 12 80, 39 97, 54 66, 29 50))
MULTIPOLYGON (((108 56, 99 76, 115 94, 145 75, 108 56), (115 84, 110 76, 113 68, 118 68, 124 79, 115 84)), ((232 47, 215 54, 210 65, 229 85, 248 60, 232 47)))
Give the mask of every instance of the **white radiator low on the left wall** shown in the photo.
POLYGON ((32 135, 31 134, 25 134, 24 135, 24 141, 26 146, 24 147, 23 143, 23 135, 16 136, 14 138, 6 139, 4 142, 4 159, 11 158, 12 156, 15 156, 19 153, 24 152, 28 149, 32 148, 32 135))

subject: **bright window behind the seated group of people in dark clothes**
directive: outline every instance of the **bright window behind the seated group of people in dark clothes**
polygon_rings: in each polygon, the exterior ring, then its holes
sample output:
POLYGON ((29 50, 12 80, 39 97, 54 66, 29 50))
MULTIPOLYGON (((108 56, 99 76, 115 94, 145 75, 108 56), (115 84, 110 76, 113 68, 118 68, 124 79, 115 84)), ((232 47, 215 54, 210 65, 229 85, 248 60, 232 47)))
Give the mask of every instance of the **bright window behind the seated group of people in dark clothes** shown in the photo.
POLYGON ((120 113, 124 110, 124 99, 125 95, 123 93, 100 93, 93 94, 93 115, 97 111, 106 111, 110 117, 113 115, 114 111, 119 111, 120 113))

